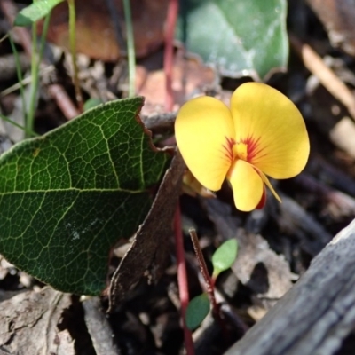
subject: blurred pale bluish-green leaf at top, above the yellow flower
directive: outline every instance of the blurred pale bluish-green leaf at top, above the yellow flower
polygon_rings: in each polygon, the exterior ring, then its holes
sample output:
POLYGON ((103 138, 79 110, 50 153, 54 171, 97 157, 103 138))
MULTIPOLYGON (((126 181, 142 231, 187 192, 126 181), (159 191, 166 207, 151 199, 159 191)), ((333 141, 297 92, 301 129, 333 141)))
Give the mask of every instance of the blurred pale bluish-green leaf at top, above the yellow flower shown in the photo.
POLYGON ((286 0, 180 0, 177 37, 230 77, 263 80, 288 63, 286 0))

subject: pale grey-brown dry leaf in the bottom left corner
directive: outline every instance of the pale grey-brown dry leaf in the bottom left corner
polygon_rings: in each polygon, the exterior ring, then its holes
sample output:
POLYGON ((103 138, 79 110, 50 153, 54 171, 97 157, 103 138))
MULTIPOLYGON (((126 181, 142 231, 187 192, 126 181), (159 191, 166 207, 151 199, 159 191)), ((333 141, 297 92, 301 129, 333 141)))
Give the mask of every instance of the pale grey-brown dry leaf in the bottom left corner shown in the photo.
POLYGON ((74 340, 60 330, 71 296, 52 288, 28 291, 0 304, 0 350, 9 354, 74 355, 74 340))

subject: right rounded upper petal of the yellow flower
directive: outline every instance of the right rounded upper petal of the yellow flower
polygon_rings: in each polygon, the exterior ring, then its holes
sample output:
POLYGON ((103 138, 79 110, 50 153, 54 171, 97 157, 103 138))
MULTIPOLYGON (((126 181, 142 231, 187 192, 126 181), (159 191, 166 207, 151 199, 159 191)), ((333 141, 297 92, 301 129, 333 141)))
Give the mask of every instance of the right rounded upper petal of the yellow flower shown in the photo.
POLYGON ((294 177, 304 169, 310 152, 304 119, 280 91, 244 83, 233 93, 231 111, 236 140, 248 146, 248 162, 274 178, 294 177))

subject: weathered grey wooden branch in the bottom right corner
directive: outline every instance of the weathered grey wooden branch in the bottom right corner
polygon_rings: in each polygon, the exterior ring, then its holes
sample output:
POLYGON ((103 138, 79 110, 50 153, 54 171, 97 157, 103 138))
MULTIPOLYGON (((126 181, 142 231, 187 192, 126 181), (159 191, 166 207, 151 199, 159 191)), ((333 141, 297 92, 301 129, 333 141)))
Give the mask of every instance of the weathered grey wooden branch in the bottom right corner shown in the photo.
POLYGON ((330 355, 355 325, 355 221, 225 355, 330 355))

